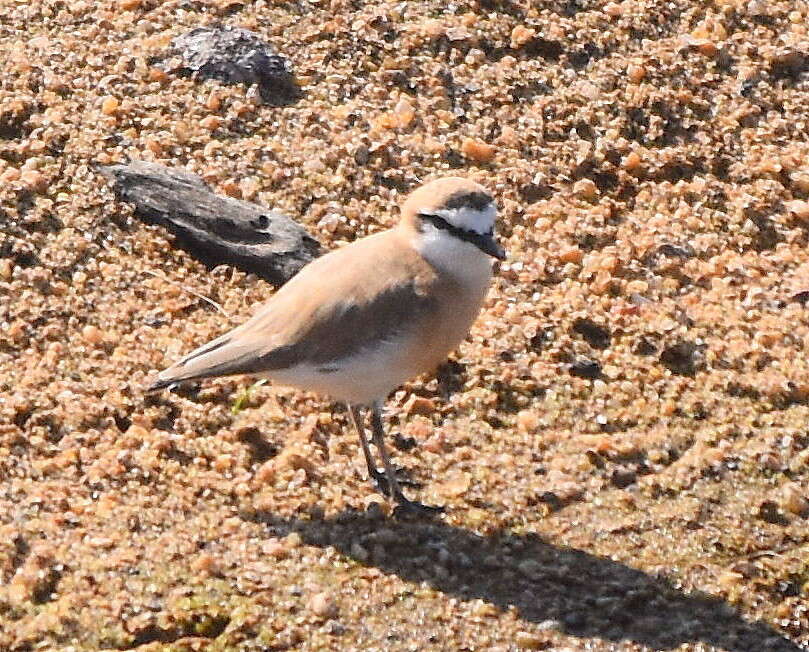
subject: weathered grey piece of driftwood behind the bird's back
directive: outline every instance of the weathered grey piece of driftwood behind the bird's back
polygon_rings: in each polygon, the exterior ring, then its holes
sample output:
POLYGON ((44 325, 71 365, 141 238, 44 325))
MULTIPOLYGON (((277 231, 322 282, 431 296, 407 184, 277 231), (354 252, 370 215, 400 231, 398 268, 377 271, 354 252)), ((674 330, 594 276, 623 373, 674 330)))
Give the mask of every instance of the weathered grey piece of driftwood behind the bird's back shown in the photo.
POLYGON ((119 199, 135 205, 138 217, 165 226, 182 248, 208 265, 233 265, 281 285, 322 253, 294 220, 217 195, 185 170, 132 161, 101 172, 119 199))

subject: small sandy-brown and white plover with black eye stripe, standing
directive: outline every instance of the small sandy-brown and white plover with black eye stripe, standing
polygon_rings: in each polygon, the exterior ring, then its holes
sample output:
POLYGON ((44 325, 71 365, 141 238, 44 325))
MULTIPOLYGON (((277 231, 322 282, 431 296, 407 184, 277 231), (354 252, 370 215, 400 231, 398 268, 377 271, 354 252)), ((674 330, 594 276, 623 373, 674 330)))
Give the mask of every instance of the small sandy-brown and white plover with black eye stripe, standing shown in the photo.
POLYGON ((247 374, 346 404, 369 477, 396 510, 443 508, 408 499, 384 442, 382 406, 433 371, 467 336, 506 253, 492 194, 440 177, 402 203, 398 223, 304 266, 244 324, 161 371, 147 391, 247 374), (372 441, 364 429, 370 412, 372 441))

